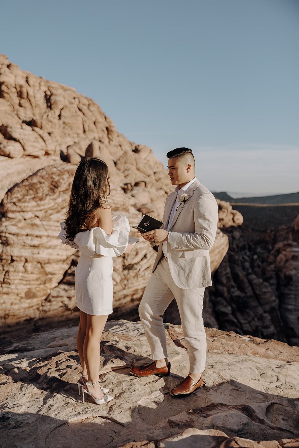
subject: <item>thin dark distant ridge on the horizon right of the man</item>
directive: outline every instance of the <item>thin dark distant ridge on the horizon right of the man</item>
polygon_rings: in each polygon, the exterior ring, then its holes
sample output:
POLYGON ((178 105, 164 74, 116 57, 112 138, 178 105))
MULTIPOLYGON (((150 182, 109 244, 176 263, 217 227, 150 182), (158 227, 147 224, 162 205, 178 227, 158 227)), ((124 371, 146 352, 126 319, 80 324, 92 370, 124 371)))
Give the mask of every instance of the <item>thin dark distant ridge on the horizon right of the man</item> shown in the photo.
POLYGON ((243 204, 298 204, 299 191, 296 193, 275 194, 273 196, 257 196, 251 198, 232 198, 225 191, 213 192, 215 198, 221 201, 236 202, 243 204))

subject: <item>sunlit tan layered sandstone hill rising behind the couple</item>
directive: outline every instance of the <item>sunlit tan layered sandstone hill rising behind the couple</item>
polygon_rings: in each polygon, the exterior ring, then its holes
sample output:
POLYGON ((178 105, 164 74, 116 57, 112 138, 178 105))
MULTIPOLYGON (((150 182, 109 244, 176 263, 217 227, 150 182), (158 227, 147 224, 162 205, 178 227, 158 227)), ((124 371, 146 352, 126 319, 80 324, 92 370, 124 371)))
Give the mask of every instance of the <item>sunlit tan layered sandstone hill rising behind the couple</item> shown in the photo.
MULTIPOLYGON (((84 156, 109 167, 113 213, 136 223, 161 219, 172 191, 152 150, 129 142, 91 99, 73 88, 24 72, 0 56, 0 330, 16 331, 74 317, 78 253, 56 238, 72 178, 84 156)), ((220 228, 242 217, 221 206, 220 228)), ((230 225, 229 224, 229 225, 230 225)), ((134 236, 134 232, 133 232, 134 236)), ((135 234, 136 236, 136 234, 135 234)), ((155 252, 142 241, 114 260, 116 316, 136 314, 155 252)), ((228 249, 218 230, 215 271, 228 249)), ((78 313, 77 313, 78 315, 78 313)))

